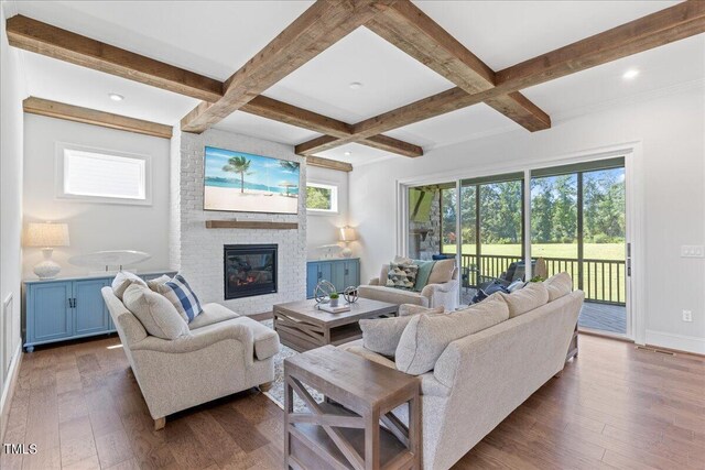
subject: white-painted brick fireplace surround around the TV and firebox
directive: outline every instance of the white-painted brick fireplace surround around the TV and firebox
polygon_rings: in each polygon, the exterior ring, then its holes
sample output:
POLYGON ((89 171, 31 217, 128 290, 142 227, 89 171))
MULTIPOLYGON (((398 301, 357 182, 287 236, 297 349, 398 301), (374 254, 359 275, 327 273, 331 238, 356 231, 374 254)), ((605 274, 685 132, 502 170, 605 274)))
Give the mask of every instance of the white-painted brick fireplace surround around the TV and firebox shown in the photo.
POLYGON ((177 132, 172 141, 170 258, 199 296, 202 303, 217 302, 240 315, 271 311, 272 305, 306 296, 306 209, 299 198, 299 215, 204 211, 204 152, 216 146, 301 163, 300 194, 306 182, 306 166, 294 149, 275 142, 208 130, 203 134, 177 132), (206 220, 265 220, 299 222, 299 230, 206 229, 206 220), (223 285, 224 244, 279 245, 278 292, 225 300, 223 285))

